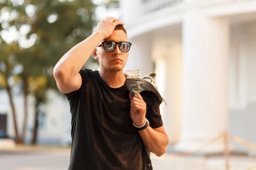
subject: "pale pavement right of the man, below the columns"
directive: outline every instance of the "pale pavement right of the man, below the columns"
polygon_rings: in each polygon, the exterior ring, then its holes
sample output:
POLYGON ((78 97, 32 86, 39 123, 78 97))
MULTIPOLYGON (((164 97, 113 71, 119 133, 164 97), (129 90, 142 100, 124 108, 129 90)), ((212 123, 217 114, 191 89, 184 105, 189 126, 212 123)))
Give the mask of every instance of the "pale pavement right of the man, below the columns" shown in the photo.
MULTIPOLYGON (((225 159, 222 156, 172 157, 170 154, 165 154, 157 157, 152 154, 151 160, 154 170, 225 170, 225 159)), ((256 158, 239 156, 230 158, 230 170, 256 170, 254 166, 256 166, 256 158)))

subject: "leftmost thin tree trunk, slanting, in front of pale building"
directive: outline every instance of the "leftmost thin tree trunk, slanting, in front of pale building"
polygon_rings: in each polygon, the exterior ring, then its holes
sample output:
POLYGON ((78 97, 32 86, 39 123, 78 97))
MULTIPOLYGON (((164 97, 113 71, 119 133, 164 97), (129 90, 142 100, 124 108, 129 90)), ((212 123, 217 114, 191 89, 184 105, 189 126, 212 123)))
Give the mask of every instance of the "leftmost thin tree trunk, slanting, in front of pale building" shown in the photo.
POLYGON ((10 100, 10 104, 11 104, 11 108, 12 108, 12 117, 13 117, 13 125, 14 125, 16 143, 17 144, 22 144, 23 139, 20 138, 19 133, 18 133, 17 120, 16 120, 16 110, 15 110, 15 107, 14 107, 12 90, 11 90, 8 82, 7 82, 6 90, 7 90, 9 100, 10 100))

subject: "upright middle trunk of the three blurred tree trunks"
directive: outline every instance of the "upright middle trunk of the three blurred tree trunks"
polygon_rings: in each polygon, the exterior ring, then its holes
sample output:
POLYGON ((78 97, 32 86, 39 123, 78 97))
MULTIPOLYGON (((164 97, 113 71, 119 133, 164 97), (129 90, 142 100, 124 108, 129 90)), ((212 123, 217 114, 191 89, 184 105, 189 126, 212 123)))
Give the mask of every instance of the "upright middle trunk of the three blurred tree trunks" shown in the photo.
POLYGON ((24 119, 23 119, 23 127, 22 127, 22 138, 25 140, 26 136, 26 126, 28 122, 28 82, 27 82, 27 74, 24 71, 22 75, 23 79, 23 98, 24 98, 24 119))

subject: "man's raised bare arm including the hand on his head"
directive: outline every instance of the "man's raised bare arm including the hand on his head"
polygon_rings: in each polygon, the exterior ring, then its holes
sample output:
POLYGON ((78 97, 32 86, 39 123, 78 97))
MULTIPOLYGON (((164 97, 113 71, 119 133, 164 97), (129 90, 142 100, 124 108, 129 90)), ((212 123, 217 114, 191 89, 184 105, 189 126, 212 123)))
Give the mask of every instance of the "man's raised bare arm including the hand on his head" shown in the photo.
POLYGON ((71 48, 61 57, 53 69, 53 76, 60 91, 70 93, 81 87, 82 80, 79 71, 93 50, 99 45, 99 42, 109 37, 119 24, 124 25, 116 18, 107 17, 98 23, 90 37, 71 48))

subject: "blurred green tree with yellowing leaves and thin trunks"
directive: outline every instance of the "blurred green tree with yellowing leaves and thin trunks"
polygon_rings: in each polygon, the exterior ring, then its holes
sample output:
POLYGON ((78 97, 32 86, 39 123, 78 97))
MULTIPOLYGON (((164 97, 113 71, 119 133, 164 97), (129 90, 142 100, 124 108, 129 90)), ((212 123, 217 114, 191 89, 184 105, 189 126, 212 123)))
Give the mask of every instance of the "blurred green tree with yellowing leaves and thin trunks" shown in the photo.
MULTIPOLYGON (((21 93, 24 97, 23 130, 20 136, 17 129, 16 112, 13 101, 12 115, 15 126, 15 137, 18 143, 25 138, 27 122, 27 97, 35 96, 35 127, 32 143, 36 142, 37 114, 40 103, 46 101, 46 91, 56 89, 52 70, 58 60, 74 45, 90 36, 96 23, 94 10, 96 6, 90 0, 6 0, 1 3, 1 10, 15 13, 12 19, 4 21, 8 30, 15 27, 17 31, 27 28, 27 33, 19 40, 8 44, 1 37, 0 79, 1 88, 6 89, 12 101, 12 87, 8 79, 16 77, 20 80, 21 93), (34 41, 34 42, 33 42, 34 41), (33 42, 33 43, 31 43, 33 42), (21 66, 15 75, 13 70, 21 66), (10 92, 10 93, 9 93, 10 92)), ((3 21, 1 26, 3 26, 3 21)), ((2 35, 2 34, 1 34, 2 35)))

